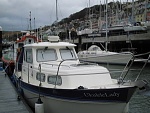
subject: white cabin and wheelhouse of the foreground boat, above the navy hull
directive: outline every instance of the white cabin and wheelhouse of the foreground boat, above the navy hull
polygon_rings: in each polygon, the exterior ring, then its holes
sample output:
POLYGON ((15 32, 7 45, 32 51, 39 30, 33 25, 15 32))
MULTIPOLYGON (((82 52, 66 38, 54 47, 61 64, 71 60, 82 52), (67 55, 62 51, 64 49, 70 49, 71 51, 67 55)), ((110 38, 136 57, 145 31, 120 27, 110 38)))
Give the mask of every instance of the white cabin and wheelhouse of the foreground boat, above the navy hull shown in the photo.
POLYGON ((54 88, 78 88, 111 84, 108 70, 98 65, 79 62, 75 44, 53 40, 26 44, 19 59, 18 71, 26 83, 54 88), (21 67, 21 69, 19 69, 21 67), (91 74, 90 74, 91 73, 91 74), (98 73, 103 73, 99 75, 98 73), (94 78, 94 79, 93 79, 94 78), (104 81, 106 78, 106 81, 104 81), (91 81, 92 79, 92 81, 91 81))

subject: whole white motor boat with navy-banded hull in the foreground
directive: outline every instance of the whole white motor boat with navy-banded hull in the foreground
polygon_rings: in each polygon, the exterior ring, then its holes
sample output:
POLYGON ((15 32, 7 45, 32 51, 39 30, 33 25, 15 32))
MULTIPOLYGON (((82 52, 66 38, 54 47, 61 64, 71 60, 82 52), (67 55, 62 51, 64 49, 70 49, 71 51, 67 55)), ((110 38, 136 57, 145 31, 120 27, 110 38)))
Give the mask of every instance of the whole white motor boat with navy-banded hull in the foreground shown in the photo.
POLYGON ((127 113, 137 84, 80 63, 74 46, 56 36, 24 45, 14 78, 28 104, 34 108, 40 98, 44 113, 127 113))

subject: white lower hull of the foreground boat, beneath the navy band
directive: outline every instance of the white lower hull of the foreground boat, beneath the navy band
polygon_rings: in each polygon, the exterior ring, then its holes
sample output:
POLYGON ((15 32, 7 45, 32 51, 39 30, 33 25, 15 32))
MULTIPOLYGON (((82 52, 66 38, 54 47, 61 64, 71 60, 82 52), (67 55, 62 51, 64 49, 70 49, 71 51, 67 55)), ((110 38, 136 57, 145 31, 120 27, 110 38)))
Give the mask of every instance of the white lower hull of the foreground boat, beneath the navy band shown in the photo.
MULTIPOLYGON (((27 90, 24 90, 24 96, 29 104, 34 107, 38 97, 27 90)), ((128 103, 111 102, 81 102, 52 97, 41 97, 44 103, 44 113, 128 113, 128 103)))

